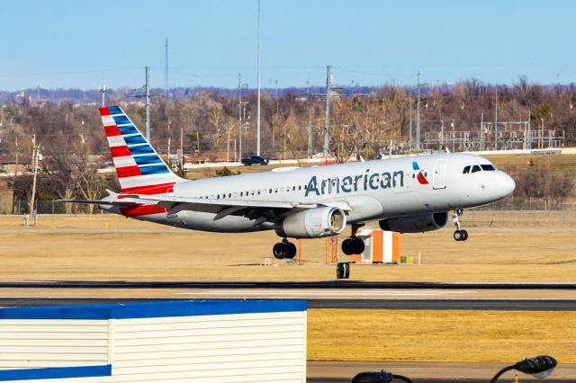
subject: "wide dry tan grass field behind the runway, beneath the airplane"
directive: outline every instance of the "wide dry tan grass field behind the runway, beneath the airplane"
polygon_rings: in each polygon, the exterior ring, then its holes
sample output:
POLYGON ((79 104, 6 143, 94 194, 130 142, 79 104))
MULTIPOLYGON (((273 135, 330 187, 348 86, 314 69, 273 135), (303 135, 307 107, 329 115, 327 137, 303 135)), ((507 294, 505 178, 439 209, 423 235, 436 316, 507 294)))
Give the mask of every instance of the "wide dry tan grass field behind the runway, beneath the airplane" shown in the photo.
MULTIPOLYGON (((402 254, 422 265, 353 265, 364 281, 574 281, 575 227, 470 228, 402 236, 402 254)), ((274 232, 211 234, 113 216, 40 217, 40 227, 0 218, 0 280, 329 281, 325 242, 302 241, 303 265, 259 263, 278 240, 274 232), (53 228, 50 228, 53 227, 53 228), (86 227, 98 230, 69 233, 86 227), (132 230, 131 232, 125 232, 132 230), (150 233, 148 230, 158 230, 150 233)), ((346 260, 342 256, 342 260, 346 260)))

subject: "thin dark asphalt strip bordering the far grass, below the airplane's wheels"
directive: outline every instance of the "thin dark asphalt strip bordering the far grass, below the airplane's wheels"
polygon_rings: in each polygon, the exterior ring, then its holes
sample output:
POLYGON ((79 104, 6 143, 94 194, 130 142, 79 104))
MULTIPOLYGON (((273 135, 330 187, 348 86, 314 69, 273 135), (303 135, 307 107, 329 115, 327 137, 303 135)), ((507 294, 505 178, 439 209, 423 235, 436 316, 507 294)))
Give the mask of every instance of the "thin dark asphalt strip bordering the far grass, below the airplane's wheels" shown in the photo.
POLYGON ((37 289, 572 289, 576 283, 410 282, 410 281, 0 281, 4 288, 37 289))

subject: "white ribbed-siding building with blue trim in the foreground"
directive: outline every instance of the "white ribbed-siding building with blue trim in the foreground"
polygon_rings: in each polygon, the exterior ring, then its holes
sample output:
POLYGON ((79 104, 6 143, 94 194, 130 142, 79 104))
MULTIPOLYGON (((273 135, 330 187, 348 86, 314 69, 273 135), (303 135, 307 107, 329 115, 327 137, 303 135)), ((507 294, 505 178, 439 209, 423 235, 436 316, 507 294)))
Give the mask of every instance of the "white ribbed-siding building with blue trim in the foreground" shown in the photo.
POLYGON ((0 381, 302 383, 306 302, 2 308, 0 381))

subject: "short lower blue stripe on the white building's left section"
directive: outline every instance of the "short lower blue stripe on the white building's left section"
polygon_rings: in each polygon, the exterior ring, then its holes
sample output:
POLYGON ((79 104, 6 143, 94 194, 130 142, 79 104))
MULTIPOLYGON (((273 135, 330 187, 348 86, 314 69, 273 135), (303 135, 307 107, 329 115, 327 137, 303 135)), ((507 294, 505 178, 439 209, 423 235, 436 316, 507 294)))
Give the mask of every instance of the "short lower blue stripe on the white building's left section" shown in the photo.
POLYGON ((0 370, 0 381, 111 376, 111 364, 105 364, 102 366, 49 367, 47 369, 0 370))

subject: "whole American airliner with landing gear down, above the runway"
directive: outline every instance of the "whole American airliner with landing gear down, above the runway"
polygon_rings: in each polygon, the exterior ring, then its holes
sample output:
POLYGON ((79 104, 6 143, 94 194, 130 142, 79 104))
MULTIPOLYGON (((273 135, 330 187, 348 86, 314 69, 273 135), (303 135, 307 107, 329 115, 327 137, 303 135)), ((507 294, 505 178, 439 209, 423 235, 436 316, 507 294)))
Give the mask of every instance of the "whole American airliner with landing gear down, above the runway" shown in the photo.
POLYGON ((362 254, 359 227, 378 220, 383 230, 419 233, 446 227, 449 212, 454 239, 468 232, 464 209, 501 200, 514 180, 482 156, 440 153, 348 164, 278 168, 271 172, 186 180, 172 173, 119 106, 100 108, 121 192, 97 204, 128 218, 220 233, 275 230, 278 259, 292 259, 288 238, 338 236, 344 254, 362 254))

